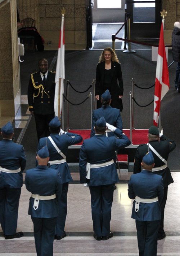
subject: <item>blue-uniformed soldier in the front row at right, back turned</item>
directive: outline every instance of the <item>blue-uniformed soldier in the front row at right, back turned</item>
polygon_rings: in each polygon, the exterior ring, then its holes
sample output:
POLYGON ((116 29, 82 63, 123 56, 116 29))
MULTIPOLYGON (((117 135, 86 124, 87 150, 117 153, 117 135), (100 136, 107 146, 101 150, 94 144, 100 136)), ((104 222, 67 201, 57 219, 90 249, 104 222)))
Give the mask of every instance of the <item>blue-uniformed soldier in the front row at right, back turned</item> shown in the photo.
POLYGON ((136 220, 140 256, 157 255, 157 235, 161 221, 163 179, 154 174, 154 157, 148 152, 141 162, 143 170, 132 174, 128 184, 128 196, 135 199, 131 217, 136 220))

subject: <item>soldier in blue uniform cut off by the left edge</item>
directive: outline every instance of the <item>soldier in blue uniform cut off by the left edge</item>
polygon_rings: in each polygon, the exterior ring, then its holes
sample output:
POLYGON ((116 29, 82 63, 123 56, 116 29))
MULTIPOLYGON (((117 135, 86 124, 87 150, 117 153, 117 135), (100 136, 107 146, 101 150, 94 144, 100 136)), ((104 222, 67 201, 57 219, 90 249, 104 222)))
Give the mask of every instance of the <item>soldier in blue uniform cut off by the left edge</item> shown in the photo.
POLYGON ((24 235, 23 232, 16 232, 16 229, 26 156, 23 146, 12 141, 13 134, 10 122, 1 128, 3 140, 0 141, 0 224, 5 239, 24 235))

